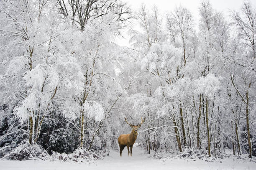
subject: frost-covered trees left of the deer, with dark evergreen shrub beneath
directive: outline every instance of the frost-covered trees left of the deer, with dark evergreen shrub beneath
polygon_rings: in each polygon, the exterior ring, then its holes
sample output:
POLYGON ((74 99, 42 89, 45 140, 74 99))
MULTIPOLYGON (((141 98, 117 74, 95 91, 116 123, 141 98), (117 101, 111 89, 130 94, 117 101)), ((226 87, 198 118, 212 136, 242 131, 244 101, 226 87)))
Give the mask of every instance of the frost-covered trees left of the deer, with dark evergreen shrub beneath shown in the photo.
POLYGON ((110 149, 125 57, 111 40, 130 8, 120 0, 6 0, 0 16, 0 155, 23 142, 49 153, 110 149))

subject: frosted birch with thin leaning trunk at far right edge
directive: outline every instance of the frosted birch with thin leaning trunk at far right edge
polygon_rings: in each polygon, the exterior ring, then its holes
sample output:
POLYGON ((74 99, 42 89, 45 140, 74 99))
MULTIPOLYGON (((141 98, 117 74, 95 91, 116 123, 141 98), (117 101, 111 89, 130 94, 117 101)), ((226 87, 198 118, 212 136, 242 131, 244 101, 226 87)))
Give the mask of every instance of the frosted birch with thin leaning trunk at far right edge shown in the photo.
POLYGON ((248 150, 249 157, 252 157, 252 146, 251 146, 251 138, 250 138, 250 122, 249 122, 249 114, 251 108, 251 101, 254 100, 255 97, 253 91, 253 84, 255 82, 255 28, 256 28, 256 10, 253 8, 249 1, 244 1, 243 6, 241 8, 241 13, 236 11, 232 11, 233 24, 235 25, 238 36, 240 38, 241 43, 243 43, 243 48, 245 52, 242 52, 241 56, 235 58, 234 61, 238 63, 238 66, 241 68, 241 74, 237 75, 237 79, 243 80, 239 81, 239 85, 243 86, 238 87, 238 84, 235 79, 235 74, 230 74, 230 79, 232 81, 233 86, 235 87, 237 93, 241 97, 243 104, 246 107, 246 127, 247 127, 247 140, 248 140, 248 150), (243 90, 241 90, 242 88, 243 90))

